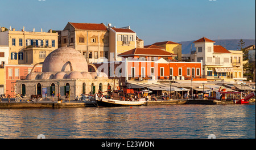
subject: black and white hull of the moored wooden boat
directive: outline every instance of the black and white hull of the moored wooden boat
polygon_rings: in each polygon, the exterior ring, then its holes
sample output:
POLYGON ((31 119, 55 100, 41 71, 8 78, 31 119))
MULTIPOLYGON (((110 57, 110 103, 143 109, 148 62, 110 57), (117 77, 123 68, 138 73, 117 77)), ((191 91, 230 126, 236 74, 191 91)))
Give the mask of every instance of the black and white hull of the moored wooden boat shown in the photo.
POLYGON ((142 106, 147 105, 147 101, 119 101, 119 100, 112 100, 101 98, 96 100, 98 106, 104 107, 121 107, 121 106, 142 106))

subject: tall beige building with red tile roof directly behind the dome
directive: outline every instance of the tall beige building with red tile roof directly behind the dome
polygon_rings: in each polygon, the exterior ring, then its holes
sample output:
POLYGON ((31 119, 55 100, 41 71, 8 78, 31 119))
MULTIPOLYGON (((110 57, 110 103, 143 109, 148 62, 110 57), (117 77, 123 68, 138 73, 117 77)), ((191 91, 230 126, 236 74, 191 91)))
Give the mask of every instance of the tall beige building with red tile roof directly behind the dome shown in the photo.
POLYGON ((109 59, 109 32, 103 24, 68 23, 61 31, 61 47, 78 50, 87 62, 109 59))

